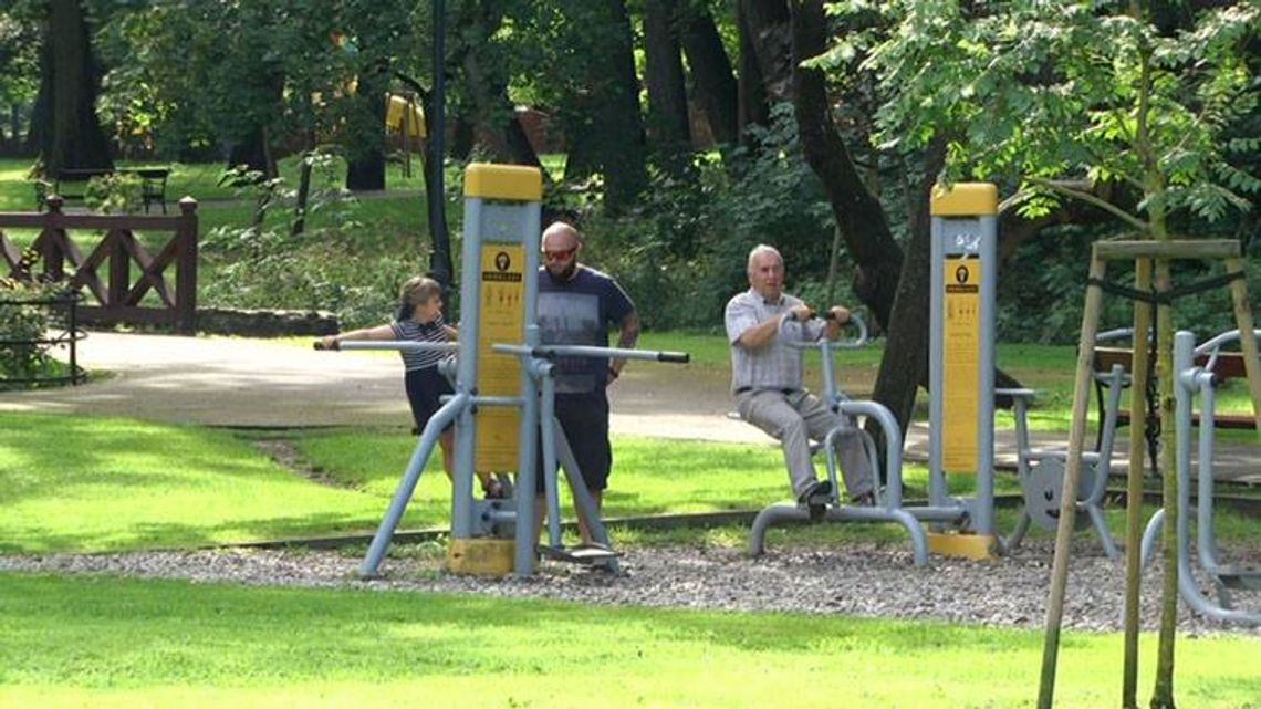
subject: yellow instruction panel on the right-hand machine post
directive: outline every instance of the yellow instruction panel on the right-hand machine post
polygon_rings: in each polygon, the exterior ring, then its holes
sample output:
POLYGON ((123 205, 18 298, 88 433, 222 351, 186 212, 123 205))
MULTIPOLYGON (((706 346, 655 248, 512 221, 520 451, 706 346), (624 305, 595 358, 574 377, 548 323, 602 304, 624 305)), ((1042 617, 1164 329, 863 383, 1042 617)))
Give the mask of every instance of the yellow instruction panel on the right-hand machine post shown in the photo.
POLYGON ((976 472, 981 387, 981 260, 944 260, 942 469, 976 472))

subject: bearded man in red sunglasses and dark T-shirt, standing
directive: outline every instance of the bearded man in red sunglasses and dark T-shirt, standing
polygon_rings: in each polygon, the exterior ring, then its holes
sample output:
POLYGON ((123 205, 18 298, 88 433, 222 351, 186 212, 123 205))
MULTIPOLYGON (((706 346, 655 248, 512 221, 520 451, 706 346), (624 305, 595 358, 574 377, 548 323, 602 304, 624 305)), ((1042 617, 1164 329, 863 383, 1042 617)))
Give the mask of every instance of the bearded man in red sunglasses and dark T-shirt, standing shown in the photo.
MULTIPOLYGON (((581 235, 571 225, 555 222, 543 230, 543 266, 538 272, 536 308, 541 343, 608 347, 609 329, 617 327, 617 347, 633 348, 639 339, 634 303, 613 278, 580 264, 581 250, 581 235)), ((615 358, 561 357, 556 361, 556 419, 596 510, 613 467, 605 387, 618 378, 624 366, 624 360, 615 358)), ((538 479, 541 493, 542 474, 538 479)), ((543 512, 543 505, 537 510, 543 512)), ((590 545, 591 535, 581 515, 578 524, 583 544, 590 545)))

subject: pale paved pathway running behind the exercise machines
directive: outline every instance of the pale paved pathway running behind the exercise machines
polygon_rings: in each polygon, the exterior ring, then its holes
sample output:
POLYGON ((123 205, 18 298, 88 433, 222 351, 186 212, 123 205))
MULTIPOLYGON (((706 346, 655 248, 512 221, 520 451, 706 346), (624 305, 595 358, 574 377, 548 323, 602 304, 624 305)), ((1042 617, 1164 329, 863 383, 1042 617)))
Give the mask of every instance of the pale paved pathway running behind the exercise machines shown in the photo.
MULTIPOLYGON (((227 337, 90 333, 82 366, 108 376, 87 385, 6 392, 0 410, 129 415, 231 426, 381 425, 409 421, 402 367, 392 352, 317 352, 293 343, 227 337)), ((772 444, 730 420, 726 372, 694 365, 636 362, 610 389, 614 433, 772 444)), ((1122 434, 1121 437, 1126 437, 1122 434)), ((1010 431, 996 434, 999 464, 1011 466, 1010 431)), ((1063 434, 1035 447, 1064 448, 1063 434)), ((914 425, 907 457, 926 459, 927 428, 914 425)), ((1125 469, 1127 440, 1117 442, 1125 469)), ((1261 484, 1261 445, 1221 447, 1219 476, 1261 484)))

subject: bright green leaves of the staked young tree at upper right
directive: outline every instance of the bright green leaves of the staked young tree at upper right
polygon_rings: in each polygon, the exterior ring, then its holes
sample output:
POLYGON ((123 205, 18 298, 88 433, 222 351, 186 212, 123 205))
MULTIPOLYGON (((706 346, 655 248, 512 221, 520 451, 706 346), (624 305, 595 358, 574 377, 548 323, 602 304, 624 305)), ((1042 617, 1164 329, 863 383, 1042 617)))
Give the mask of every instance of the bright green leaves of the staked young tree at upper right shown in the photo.
MULTIPOLYGON (((1261 182, 1231 163, 1226 139, 1257 107, 1247 43, 1261 8, 1199 10, 1161 32, 1119 5, 1054 5, 884 4, 894 29, 864 47, 864 66, 888 96, 883 145, 914 150, 944 139, 950 180, 1019 182, 1026 216, 1064 196, 1090 198, 1062 179, 1137 192, 1134 207, 1120 194, 1095 203, 1155 235, 1169 213, 1212 222, 1248 208, 1261 182)), ((852 45, 834 53, 842 49, 852 45)))

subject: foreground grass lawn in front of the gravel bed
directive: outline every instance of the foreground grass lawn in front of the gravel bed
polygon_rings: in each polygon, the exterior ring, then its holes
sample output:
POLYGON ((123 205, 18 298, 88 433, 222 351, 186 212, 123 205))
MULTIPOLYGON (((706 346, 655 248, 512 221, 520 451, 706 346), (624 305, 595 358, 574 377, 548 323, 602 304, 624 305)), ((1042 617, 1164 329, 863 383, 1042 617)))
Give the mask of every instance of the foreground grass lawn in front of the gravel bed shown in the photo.
MULTIPOLYGON (((1042 653, 942 622, 13 573, 0 635, 5 706, 1014 708, 1042 653)), ((1113 705, 1120 635, 1062 646, 1055 705, 1113 705)), ((1255 709, 1258 665, 1256 638, 1180 638, 1178 695, 1255 709)))

